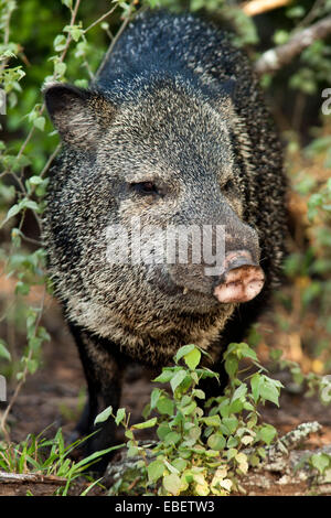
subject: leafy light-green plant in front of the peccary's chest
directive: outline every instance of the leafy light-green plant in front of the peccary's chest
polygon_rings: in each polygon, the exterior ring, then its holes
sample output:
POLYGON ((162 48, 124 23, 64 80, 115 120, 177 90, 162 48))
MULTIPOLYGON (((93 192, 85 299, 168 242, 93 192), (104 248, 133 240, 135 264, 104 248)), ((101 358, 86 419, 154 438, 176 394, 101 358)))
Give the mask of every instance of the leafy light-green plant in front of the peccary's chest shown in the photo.
POLYGON ((229 384, 223 396, 204 403, 199 382, 217 374, 199 366, 206 353, 193 344, 181 347, 175 365, 162 369, 154 381, 170 384, 171 393, 154 388, 145 409, 145 422, 130 425, 130 416, 121 408, 116 416, 109 407, 96 422, 113 417, 125 427, 130 468, 115 482, 111 495, 200 495, 223 496, 241 490, 239 478, 249 464, 265 457, 265 445, 276 438, 270 424, 259 423, 257 407, 266 400, 278 406, 281 384, 264 374, 256 353, 245 343, 229 344, 225 369, 229 384), (241 360, 252 365, 239 370, 241 360), (245 375, 239 379, 239 375, 245 375), (203 408, 204 407, 204 408, 203 408), (157 442, 143 446, 137 430, 153 428, 157 442), (136 460, 138 457, 138 460, 136 460))

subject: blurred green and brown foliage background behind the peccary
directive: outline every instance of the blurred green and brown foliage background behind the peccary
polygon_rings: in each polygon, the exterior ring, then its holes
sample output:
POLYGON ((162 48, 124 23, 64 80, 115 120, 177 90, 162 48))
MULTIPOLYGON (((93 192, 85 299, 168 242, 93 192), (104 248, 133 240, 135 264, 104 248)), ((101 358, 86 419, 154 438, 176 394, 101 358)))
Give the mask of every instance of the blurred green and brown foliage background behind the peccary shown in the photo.
MULTIPOLYGON (((7 97, 0 141, 0 361, 1 371, 18 378, 18 387, 38 369, 49 339, 41 317, 43 287, 51 288, 39 239, 46 173, 58 137, 45 116, 42 85, 67 80, 87 86, 116 34, 147 7, 191 10, 234 28, 235 44, 245 46, 253 61, 331 12, 331 0, 293 0, 254 18, 241 6, 236 0, 0 0, 0 84, 7 97), (25 343, 23 350, 17 343, 25 343)), ((331 119, 328 110, 322 114, 331 94, 330 56, 331 39, 316 41, 275 76, 261 77, 282 133, 292 187, 287 283, 274 314, 280 343, 267 342, 292 359, 308 355, 303 370, 321 375, 331 369, 331 119), (298 348, 301 356, 293 354, 298 348)))

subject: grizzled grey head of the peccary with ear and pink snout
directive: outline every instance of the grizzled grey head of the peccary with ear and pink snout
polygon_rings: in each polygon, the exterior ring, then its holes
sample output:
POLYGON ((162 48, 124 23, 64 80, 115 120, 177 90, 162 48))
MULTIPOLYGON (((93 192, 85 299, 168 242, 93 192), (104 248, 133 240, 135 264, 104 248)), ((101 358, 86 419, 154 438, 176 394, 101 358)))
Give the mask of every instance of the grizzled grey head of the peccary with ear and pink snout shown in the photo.
POLYGON ((163 79, 119 102, 57 84, 45 100, 65 143, 49 198, 51 266, 73 319, 100 333, 115 319, 139 331, 143 315, 143 330, 156 330, 179 312, 227 317, 260 292, 226 88, 197 98, 163 79))

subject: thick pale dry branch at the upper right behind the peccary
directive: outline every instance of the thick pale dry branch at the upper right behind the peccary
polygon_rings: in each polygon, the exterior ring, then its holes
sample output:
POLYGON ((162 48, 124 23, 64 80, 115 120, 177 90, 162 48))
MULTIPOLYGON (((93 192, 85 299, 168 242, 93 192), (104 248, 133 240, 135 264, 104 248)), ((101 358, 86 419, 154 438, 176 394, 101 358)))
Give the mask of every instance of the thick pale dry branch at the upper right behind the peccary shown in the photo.
POLYGON ((296 33, 287 43, 265 52, 255 63, 257 75, 273 73, 290 63, 316 40, 322 40, 331 34, 331 17, 310 25, 296 33))

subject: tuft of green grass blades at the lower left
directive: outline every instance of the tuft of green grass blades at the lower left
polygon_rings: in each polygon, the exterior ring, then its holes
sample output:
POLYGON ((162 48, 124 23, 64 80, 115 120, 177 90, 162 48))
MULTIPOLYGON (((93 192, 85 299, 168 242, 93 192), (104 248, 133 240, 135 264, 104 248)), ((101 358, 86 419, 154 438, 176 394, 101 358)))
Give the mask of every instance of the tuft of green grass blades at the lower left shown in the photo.
POLYGON ((84 494, 99 481, 93 481, 88 476, 88 470, 97 460, 110 452, 121 447, 113 446, 107 450, 95 452, 92 455, 76 462, 70 458, 73 450, 81 446, 88 438, 79 439, 65 446, 62 430, 58 429, 54 439, 42 438, 41 434, 29 434, 19 444, 0 442, 0 470, 8 473, 38 474, 43 476, 55 476, 65 479, 65 484, 56 489, 56 495, 66 496, 73 481, 84 476, 89 479, 90 485, 84 494))

